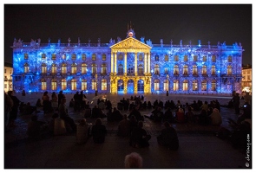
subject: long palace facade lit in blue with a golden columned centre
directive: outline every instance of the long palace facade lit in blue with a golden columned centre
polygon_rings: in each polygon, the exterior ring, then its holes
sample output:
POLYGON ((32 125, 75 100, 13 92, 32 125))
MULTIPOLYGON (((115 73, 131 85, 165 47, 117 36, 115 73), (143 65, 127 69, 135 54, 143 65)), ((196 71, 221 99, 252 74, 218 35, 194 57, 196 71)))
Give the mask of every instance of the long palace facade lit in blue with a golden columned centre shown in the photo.
POLYGON ((153 44, 126 39, 109 43, 14 41, 16 92, 240 93, 241 44, 153 44))

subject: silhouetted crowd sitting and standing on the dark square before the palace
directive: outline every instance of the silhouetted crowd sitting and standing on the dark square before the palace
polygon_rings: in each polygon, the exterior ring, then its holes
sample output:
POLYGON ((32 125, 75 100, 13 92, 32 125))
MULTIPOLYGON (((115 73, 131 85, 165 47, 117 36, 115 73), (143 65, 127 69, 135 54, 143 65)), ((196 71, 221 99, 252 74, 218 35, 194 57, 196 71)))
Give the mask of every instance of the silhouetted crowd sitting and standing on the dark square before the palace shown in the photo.
MULTIPOLYGON (((238 112, 236 99, 237 94, 234 94, 233 101, 235 104, 233 104, 233 108, 235 113, 238 112)), ((157 141, 172 150, 178 150, 179 148, 179 139, 172 124, 222 124, 220 103, 217 99, 209 103, 194 100, 190 104, 182 104, 181 100, 167 100, 164 103, 161 99, 156 99, 151 103, 150 100, 148 102, 144 100, 144 96, 141 95, 131 96, 129 99, 123 98, 117 103, 117 107, 112 107, 111 101, 106 98, 98 99, 96 106, 91 108, 86 96, 82 92, 76 92, 69 101, 69 107, 74 108, 74 112, 85 112, 84 119, 79 119, 79 123, 75 123, 75 120, 69 116, 67 99, 62 91, 58 94, 53 92, 51 97, 49 97, 47 91, 44 92, 42 99, 37 99, 36 106, 31 106, 30 102, 24 104, 16 98, 15 92, 10 91, 7 94, 4 93, 4 103, 6 129, 15 126, 18 112, 33 114, 33 112, 38 112, 37 109, 41 107, 44 114, 53 114, 49 123, 49 132, 55 135, 65 134, 67 131, 74 132, 78 144, 84 144, 90 136, 92 136, 95 143, 104 143, 107 135, 107 128, 102 125, 102 119, 104 118, 107 118, 108 122, 118 122, 117 135, 129 138, 129 144, 135 148, 148 147, 149 140, 152 138, 149 132, 143 128, 144 118, 151 119, 155 123, 161 122, 165 128, 157 137, 157 141), (121 110, 128 111, 128 114, 122 114, 121 110), (141 111, 145 110, 150 114, 141 115, 141 111), (95 125, 89 125, 87 119, 95 119, 95 125)), ((236 122, 238 125, 245 119, 252 119, 251 102, 246 102, 242 110, 243 113, 236 122)), ((28 136, 30 138, 40 136, 44 125, 45 123, 38 121, 36 115, 33 115, 28 125, 28 136)))

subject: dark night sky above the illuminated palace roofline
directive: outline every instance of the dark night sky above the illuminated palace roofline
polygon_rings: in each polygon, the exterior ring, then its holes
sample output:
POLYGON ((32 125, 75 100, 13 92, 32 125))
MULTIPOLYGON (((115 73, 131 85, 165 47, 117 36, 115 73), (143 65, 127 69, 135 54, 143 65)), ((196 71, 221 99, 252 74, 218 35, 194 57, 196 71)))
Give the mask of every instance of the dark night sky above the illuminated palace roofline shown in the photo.
POLYGON ((12 62, 14 38, 107 43, 125 39, 130 21, 138 40, 157 44, 241 42, 243 64, 252 64, 252 4, 4 4, 4 61, 12 62))

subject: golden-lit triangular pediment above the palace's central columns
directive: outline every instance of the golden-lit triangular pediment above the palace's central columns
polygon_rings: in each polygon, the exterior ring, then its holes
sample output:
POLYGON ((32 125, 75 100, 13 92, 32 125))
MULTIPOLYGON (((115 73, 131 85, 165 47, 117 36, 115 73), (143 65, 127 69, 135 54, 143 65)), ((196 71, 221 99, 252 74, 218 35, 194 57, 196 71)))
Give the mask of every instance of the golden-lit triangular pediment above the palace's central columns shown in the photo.
POLYGON ((147 44, 138 41, 133 37, 128 37, 127 39, 118 42, 110 47, 111 49, 151 49, 147 44))

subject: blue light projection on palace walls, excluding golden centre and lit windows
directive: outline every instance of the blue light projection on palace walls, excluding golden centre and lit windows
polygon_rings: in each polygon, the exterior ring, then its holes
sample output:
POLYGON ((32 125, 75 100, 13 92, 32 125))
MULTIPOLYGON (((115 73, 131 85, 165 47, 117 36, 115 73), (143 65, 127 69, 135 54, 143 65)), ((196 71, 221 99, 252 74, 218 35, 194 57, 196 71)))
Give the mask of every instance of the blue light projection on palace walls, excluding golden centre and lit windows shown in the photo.
MULTIPOLYGON (((120 38, 119 38, 120 39, 120 38)), ((144 39, 143 39, 144 40, 144 39)), ((121 40, 119 40, 121 42, 121 40)), ((144 41, 143 41, 144 42, 144 41)), ((22 92, 23 89, 30 93, 34 92, 59 92, 62 89, 62 80, 66 80, 66 85, 63 90, 64 93, 75 93, 82 90, 82 80, 86 80, 86 86, 83 86, 85 93, 109 93, 110 82, 110 68, 111 68, 111 49, 110 45, 115 43, 41 43, 40 42, 14 42, 13 46, 13 87, 16 92, 22 92), (25 56, 28 54, 28 56, 25 56), (45 58, 43 58, 45 54, 45 58), (56 54, 56 59, 52 57, 56 54), (63 59, 62 55, 66 58, 63 59), (75 58, 72 57, 75 54, 75 58), (82 60, 82 54, 86 55, 86 59, 82 60), (96 54, 96 60, 92 60, 92 55, 96 54), (102 54, 106 54, 106 60, 102 61, 102 54), (43 63, 46 64, 46 72, 43 73, 43 63), (71 65, 76 64, 75 74, 71 74, 71 65), (87 73, 82 74, 82 63, 87 65, 87 73), (102 74, 102 64, 107 66, 107 74, 102 74), (28 67, 25 67, 26 64, 28 67), (56 64, 56 72, 51 74, 52 65, 56 64), (62 74, 62 64, 67 65, 67 73, 62 74), (96 74, 93 74, 92 66, 96 65, 96 74), (26 68, 26 69, 25 69, 26 68), (27 72, 25 72, 27 70, 27 72), (46 86, 43 86, 43 80, 46 86), (52 83, 56 80, 56 86, 52 83), (75 80, 75 84, 71 82, 75 80), (93 88, 93 80, 95 80, 95 88, 93 88), (107 87, 102 86, 102 81, 107 80, 107 87), (72 86, 75 85, 75 86, 72 86), (72 90, 73 87, 73 90, 72 90)), ((226 46, 226 42, 220 43, 216 46, 202 45, 200 40, 198 45, 180 44, 153 44, 150 39, 147 44, 151 46, 150 53, 150 74, 151 74, 151 92, 152 93, 232 93, 236 91, 240 93, 241 80, 241 62, 242 49, 241 44, 234 43, 232 46, 226 46), (197 59, 194 60, 194 55, 197 59), (178 60, 174 57, 178 56, 178 60), (187 60, 184 58, 187 56, 187 60), (157 58, 156 58, 157 57, 157 58), (204 58, 206 60, 204 60, 204 58), (215 57, 215 60, 213 60, 215 57), (229 59, 229 57, 231 57, 229 59), (166 59, 167 58, 167 59, 166 59), (154 74, 154 68, 159 65, 159 74, 154 74), (179 74, 174 74, 174 66, 179 67, 179 74), (183 74, 183 67, 187 66, 187 74, 183 74), (207 67, 207 73, 203 74, 203 67, 207 67), (196 68, 194 68, 196 67, 196 68), (212 67, 215 67, 214 70, 212 67), (196 74, 193 74, 196 69, 196 74), (228 70, 231 72, 228 74, 228 70), (215 74, 212 73, 215 71, 215 74), (154 88, 154 82, 159 80, 159 87, 154 88), (178 81, 178 90, 174 89, 174 81, 178 81), (202 82, 207 81, 207 89, 202 89, 202 82), (164 84, 167 81, 167 84, 164 84), (196 83, 196 84, 194 84, 196 83), (166 85, 166 86, 165 86, 166 85)), ((137 66, 146 66, 144 64, 144 57, 139 60, 140 54, 137 55, 137 66)), ((142 54, 143 56, 144 54, 142 54)), ((121 65, 124 70, 124 60, 118 59, 117 64, 121 65)), ((135 54, 128 53, 127 56, 127 71, 131 75, 135 73, 135 54), (131 67, 131 68, 129 68, 131 67)), ((118 71, 118 70, 117 70, 118 71)), ((122 74, 117 74, 122 75, 122 74)), ((144 74, 139 74, 144 75, 144 74)), ((122 81, 123 82, 123 81, 122 81)), ((139 80, 134 83, 133 80, 128 80, 128 93, 135 92, 135 85, 139 88, 138 92, 143 93, 145 81, 139 80)), ((118 93, 123 93, 123 83, 118 85, 118 93)), ((175 86, 176 87, 176 86, 175 86)))

